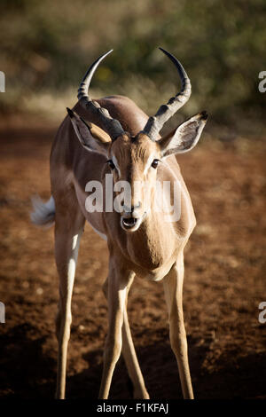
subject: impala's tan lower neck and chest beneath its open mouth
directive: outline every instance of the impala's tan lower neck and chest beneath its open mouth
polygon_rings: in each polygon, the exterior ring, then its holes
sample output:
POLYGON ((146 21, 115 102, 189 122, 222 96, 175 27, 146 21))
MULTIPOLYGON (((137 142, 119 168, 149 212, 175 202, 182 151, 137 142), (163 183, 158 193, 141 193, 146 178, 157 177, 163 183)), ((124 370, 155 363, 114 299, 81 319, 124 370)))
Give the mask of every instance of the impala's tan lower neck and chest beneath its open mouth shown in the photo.
POLYGON ((119 240, 120 250, 127 258, 148 271, 176 259, 176 251, 185 245, 196 223, 190 195, 178 172, 180 188, 176 197, 171 194, 170 201, 167 200, 165 212, 158 212, 158 206, 153 201, 137 231, 125 232, 117 221, 110 236, 111 240, 119 240))

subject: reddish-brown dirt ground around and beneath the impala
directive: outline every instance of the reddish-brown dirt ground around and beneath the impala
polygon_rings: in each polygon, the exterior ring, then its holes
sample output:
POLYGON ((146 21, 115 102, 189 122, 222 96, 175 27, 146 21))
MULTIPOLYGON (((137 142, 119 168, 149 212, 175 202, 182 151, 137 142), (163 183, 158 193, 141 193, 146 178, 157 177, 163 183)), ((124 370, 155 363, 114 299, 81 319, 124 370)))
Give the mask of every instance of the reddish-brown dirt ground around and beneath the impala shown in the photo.
MULTIPOLYGON (((29 223, 30 196, 50 195, 49 153, 55 130, 0 132, 0 396, 51 398, 56 379, 54 317, 58 277, 53 230, 29 223)), ((179 158, 198 225, 185 251, 184 316, 197 398, 266 398, 265 142, 203 138, 179 158)), ((97 398, 106 335, 106 242, 88 224, 73 298, 66 396, 97 398)), ((168 342, 162 284, 136 279, 129 319, 152 398, 181 398, 168 342)), ((129 398, 122 359, 111 398, 129 398)))

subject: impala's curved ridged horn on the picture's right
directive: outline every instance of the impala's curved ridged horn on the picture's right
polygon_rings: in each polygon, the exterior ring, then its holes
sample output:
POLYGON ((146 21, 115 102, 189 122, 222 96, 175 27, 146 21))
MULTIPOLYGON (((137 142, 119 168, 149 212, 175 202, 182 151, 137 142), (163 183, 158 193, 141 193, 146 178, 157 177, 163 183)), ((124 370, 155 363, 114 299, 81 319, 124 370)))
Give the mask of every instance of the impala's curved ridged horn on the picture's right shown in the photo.
POLYGON ((167 122, 168 119, 172 117, 180 107, 184 106, 192 94, 192 85, 189 77, 184 71, 184 67, 182 67, 174 55, 162 48, 159 49, 165 53, 176 66, 181 79, 181 90, 176 94, 175 97, 172 97, 168 100, 168 104, 160 106, 155 116, 150 117, 148 122, 146 122, 143 132, 154 141, 156 140, 164 123, 167 122))

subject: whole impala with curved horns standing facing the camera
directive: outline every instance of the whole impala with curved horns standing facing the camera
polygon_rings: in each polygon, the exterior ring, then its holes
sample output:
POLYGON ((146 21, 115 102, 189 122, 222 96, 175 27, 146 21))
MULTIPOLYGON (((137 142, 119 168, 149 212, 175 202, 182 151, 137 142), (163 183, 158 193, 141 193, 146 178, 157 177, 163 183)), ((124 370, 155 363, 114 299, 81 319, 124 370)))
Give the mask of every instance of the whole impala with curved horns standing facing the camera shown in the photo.
MULTIPOLYGON (((183 395, 184 398, 193 397, 182 294, 184 247, 196 221, 176 154, 190 151, 197 144, 207 114, 194 115, 160 138, 164 123, 184 106, 191 95, 191 83, 182 65, 168 51, 161 51, 175 65, 182 85, 180 92, 150 118, 126 97, 92 100, 89 96, 91 78, 98 64, 111 51, 92 64, 80 84, 79 101, 73 110, 67 109, 68 114, 51 148, 51 199, 46 203, 34 201, 32 221, 35 224, 55 222, 55 259, 59 272, 59 312, 56 319, 58 398, 65 397, 74 272, 86 220, 107 240, 110 254, 108 276, 103 287, 108 301, 109 325, 99 397, 108 397, 114 366, 122 351, 133 382, 134 397, 149 398, 127 315, 129 288, 135 275, 141 279, 163 281, 170 344, 176 355, 183 395), (113 185, 118 181, 130 185, 130 204, 121 201, 121 212, 106 210, 105 205, 102 212, 88 211, 85 208, 86 185, 98 181, 105 191, 107 174, 109 177, 112 175, 113 185), (175 221, 168 221, 154 209, 154 184, 164 181, 180 186, 178 204, 181 211, 175 221), (136 186, 142 182, 148 185, 145 193, 136 186)), ((115 195, 113 192, 112 199, 115 195)))

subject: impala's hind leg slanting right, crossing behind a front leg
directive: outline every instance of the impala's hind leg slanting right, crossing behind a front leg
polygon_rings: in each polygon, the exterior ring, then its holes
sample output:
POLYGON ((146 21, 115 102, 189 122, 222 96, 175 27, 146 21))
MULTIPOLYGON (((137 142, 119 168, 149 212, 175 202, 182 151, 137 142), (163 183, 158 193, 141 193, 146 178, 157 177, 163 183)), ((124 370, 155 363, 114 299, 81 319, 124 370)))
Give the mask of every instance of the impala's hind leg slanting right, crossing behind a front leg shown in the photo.
MULTIPOLYGON (((143 374, 138 364, 137 354, 134 348, 134 343, 132 340, 130 327, 129 327, 127 304, 128 304, 129 289, 133 283, 133 279, 134 278, 130 279, 129 285, 127 288, 127 295, 126 295, 124 315, 123 315, 123 325, 122 325, 122 348, 121 349, 122 349, 123 358, 125 360, 125 363, 129 372, 129 377, 131 381, 133 382, 134 398, 149 399, 149 394, 145 388, 143 374)), ((107 298, 108 278, 106 279, 103 290, 107 298)))

